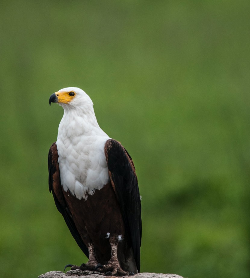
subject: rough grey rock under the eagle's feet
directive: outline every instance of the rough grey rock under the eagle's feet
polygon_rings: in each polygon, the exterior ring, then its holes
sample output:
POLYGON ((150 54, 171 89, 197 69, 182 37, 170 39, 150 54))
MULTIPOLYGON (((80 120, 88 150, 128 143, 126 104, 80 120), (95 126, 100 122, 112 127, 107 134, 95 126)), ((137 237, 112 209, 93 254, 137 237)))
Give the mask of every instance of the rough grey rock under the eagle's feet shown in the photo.
MULTIPOLYGON (((93 271, 89 271, 89 270, 82 271, 79 269, 69 270, 66 273, 62 271, 50 271, 40 275, 38 278, 69 278, 69 277, 79 278, 84 276, 88 276, 88 278, 107 278, 107 276, 104 276, 103 273, 97 271, 93 273, 93 271)), ((129 277, 129 276, 125 276, 125 277, 129 277)), ((148 272, 138 273, 131 277, 133 278, 183 278, 182 276, 177 274, 162 274, 162 273, 148 273, 148 272)))

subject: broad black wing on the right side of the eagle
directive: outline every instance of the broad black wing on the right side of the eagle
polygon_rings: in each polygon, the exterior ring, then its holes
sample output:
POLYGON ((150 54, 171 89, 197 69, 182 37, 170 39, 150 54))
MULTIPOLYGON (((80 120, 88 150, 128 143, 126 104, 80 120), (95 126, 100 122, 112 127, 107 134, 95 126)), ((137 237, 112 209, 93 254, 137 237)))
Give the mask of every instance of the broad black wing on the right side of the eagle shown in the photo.
POLYGON ((133 161, 123 146, 109 139, 105 144, 109 176, 121 208, 128 245, 132 247, 138 272, 142 220, 140 193, 133 161))

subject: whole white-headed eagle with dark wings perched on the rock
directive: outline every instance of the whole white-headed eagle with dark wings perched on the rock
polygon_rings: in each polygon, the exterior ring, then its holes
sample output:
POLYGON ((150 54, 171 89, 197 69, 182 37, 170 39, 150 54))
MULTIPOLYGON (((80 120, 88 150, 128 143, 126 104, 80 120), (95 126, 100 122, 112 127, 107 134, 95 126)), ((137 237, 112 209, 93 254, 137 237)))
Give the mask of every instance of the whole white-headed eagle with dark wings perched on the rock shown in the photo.
POLYGON ((61 89, 50 96, 52 102, 64 114, 48 153, 49 191, 89 258, 66 267, 107 276, 139 273, 141 200, 131 156, 99 127, 93 102, 82 89, 61 89))

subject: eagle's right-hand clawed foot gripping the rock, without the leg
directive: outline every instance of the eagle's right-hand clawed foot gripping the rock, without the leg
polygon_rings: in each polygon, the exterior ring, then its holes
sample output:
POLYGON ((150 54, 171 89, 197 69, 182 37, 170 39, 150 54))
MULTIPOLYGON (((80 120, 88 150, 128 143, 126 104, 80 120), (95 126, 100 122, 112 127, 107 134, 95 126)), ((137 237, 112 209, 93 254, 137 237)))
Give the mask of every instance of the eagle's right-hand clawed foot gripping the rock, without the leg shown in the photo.
POLYGON ((120 267, 118 261, 109 261, 108 264, 97 264, 94 271, 98 270, 99 272, 105 273, 105 276, 127 276, 134 275, 133 272, 124 271, 120 267))

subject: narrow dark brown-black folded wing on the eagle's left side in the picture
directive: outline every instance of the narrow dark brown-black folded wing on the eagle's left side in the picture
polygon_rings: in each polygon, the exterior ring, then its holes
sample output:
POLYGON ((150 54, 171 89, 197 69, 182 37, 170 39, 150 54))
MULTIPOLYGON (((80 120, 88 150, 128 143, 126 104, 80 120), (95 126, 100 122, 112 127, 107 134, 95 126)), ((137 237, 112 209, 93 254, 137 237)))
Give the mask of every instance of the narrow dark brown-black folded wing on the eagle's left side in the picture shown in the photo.
POLYGON ((58 211, 62 214, 70 233, 77 242, 78 246, 82 249, 83 253, 89 257, 89 250, 83 243, 80 234, 77 231, 76 225, 73 222, 72 215, 67 207, 62 192, 61 180, 60 180, 60 170, 58 164, 58 153, 56 144, 52 144, 48 152, 48 187, 49 192, 52 192, 55 205, 58 211))

